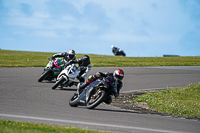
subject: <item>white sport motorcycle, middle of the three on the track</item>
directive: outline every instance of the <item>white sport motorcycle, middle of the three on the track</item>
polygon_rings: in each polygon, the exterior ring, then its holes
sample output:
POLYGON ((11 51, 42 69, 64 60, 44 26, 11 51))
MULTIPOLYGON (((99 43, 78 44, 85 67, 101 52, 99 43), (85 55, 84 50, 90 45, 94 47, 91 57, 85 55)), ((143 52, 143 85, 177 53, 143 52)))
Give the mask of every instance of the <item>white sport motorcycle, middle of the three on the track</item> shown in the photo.
POLYGON ((52 86, 52 89, 56 89, 59 85, 61 88, 72 86, 78 84, 78 82, 75 82, 74 79, 79 75, 80 68, 76 66, 75 64, 67 66, 64 70, 61 71, 61 73, 57 77, 56 83, 52 86))

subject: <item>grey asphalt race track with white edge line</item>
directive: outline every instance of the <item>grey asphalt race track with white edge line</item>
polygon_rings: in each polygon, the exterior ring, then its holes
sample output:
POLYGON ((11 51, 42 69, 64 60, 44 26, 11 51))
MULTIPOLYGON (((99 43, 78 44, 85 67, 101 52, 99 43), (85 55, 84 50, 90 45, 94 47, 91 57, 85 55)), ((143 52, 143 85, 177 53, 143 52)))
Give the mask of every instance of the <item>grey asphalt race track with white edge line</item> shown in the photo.
MULTIPOLYGON (((93 67, 114 71, 115 67, 93 67)), ((200 82, 200 67, 123 67, 122 92, 187 86, 200 82)), ((43 68, 0 68, 0 119, 84 127, 116 132, 195 132, 200 121, 122 110, 101 104, 93 110, 72 108, 76 87, 52 90, 54 82, 38 83, 43 68)))

